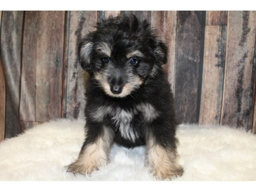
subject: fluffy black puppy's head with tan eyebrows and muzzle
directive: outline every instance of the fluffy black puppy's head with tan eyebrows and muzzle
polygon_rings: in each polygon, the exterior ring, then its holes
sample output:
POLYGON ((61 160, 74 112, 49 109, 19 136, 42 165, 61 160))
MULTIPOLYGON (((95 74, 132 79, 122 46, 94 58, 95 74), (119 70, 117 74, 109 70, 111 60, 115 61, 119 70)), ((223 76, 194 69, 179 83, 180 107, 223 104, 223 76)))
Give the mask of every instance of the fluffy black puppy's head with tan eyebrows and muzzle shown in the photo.
POLYGON ((79 46, 84 70, 106 94, 125 97, 137 90, 167 60, 167 48, 147 21, 122 15, 97 23, 79 46))

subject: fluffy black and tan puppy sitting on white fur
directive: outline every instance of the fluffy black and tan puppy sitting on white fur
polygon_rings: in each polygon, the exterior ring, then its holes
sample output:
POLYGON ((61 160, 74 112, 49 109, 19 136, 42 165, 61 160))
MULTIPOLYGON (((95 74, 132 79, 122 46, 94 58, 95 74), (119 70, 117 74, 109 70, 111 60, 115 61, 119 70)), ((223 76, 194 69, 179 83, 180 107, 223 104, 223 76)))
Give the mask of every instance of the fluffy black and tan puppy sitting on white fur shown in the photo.
POLYGON ((68 171, 90 174, 108 163, 113 142, 146 146, 146 163, 160 180, 181 176, 174 99, 161 65, 166 45, 145 20, 119 15, 99 21, 79 46, 86 86, 86 139, 68 171))

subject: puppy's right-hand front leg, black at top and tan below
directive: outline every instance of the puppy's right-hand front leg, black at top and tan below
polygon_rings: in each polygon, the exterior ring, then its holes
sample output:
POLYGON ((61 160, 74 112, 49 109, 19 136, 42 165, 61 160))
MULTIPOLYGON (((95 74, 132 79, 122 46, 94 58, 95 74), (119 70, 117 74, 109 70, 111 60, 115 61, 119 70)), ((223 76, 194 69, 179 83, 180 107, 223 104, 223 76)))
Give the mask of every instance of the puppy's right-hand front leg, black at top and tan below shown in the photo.
POLYGON ((152 125, 146 137, 146 163, 160 180, 183 174, 183 168, 177 163, 175 132, 162 126, 152 125))

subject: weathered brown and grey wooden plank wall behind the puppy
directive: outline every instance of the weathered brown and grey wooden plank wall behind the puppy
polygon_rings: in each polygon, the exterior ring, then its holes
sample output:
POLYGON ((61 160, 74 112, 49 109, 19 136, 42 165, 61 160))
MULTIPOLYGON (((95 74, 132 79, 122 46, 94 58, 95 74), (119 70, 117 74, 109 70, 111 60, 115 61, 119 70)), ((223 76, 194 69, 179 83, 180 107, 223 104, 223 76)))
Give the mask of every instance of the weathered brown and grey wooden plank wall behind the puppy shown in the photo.
MULTIPOLYGON (((5 137, 50 119, 83 118, 87 73, 77 44, 97 21, 131 13, 147 19, 168 46, 163 70, 180 123, 243 126, 256 133, 255 11, 3 11, 5 137)), ((1 76, 2 90, 3 82, 1 76)))

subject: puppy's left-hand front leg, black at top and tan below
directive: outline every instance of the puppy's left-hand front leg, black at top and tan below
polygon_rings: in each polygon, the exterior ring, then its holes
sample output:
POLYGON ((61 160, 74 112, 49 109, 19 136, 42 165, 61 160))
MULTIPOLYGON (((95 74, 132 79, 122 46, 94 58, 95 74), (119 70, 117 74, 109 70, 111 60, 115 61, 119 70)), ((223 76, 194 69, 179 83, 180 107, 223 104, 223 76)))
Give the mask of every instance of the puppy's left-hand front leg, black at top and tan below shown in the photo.
POLYGON ((108 154, 114 132, 104 125, 91 123, 87 119, 86 139, 79 157, 67 169, 69 172, 90 174, 108 162, 108 154))

